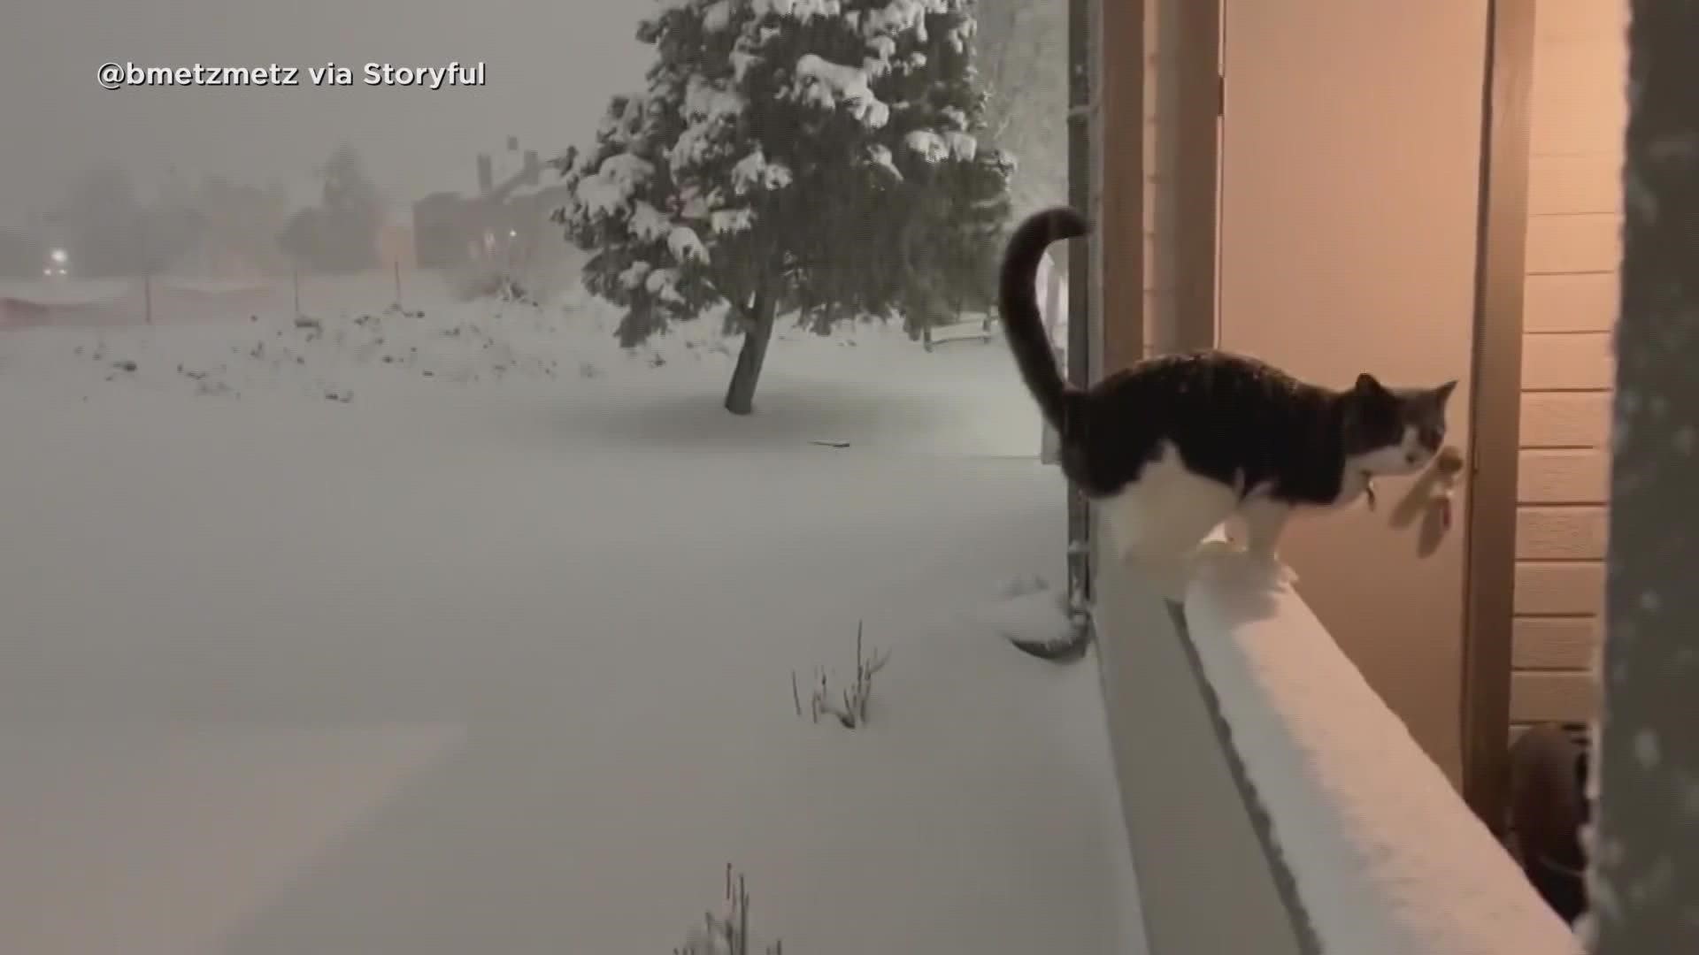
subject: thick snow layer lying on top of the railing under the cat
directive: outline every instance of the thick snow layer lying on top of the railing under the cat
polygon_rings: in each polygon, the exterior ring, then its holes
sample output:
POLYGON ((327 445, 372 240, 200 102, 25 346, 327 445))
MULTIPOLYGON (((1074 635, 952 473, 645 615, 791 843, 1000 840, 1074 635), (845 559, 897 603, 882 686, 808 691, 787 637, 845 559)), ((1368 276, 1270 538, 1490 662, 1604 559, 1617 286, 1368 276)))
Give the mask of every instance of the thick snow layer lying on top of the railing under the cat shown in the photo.
MULTIPOLYGON (((1210 556, 1174 632, 1300 950, 1582 952, 1291 586, 1242 554, 1210 556)), ((1142 882, 1160 865, 1138 860, 1142 882)))

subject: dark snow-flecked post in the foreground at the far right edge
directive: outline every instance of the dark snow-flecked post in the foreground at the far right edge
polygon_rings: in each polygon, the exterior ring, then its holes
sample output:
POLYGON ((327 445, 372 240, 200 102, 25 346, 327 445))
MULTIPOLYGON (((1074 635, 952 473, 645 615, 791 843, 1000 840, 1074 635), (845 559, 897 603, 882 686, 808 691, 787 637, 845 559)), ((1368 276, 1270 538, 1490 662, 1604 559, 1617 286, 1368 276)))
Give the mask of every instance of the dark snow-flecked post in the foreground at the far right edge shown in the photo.
POLYGON ((1604 712, 1589 783, 1597 955, 1699 952, 1699 3, 1631 8, 1604 712))

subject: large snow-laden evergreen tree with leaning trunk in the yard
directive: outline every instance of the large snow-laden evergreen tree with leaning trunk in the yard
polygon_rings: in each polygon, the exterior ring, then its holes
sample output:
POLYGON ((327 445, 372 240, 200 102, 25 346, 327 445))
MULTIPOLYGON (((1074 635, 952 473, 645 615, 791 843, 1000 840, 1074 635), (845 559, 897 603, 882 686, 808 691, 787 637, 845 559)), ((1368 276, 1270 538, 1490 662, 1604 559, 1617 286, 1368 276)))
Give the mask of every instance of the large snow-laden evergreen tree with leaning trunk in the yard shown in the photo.
POLYGON ((647 90, 562 160, 620 342, 724 304, 746 415, 782 313, 914 326, 989 294, 1011 163, 979 146, 972 2, 663 0, 647 90))

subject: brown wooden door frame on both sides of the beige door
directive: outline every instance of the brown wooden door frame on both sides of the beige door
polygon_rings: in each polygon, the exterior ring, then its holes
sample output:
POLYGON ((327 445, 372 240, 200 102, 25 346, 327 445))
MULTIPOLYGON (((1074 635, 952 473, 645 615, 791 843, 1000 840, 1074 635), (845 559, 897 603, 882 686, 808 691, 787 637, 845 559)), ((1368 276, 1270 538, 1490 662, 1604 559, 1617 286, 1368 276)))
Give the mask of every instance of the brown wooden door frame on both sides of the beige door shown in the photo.
MULTIPOLYGON (((1529 112, 1538 0, 1488 0, 1483 138, 1475 253, 1471 467, 1463 496, 1463 664, 1459 731, 1463 799, 1502 833, 1510 739, 1512 624, 1516 613, 1516 508, 1522 399, 1522 287, 1526 282, 1529 112)), ((1159 8, 1176 58, 1174 131, 1174 309, 1176 348, 1218 343, 1220 124, 1225 117, 1222 0, 1145 0, 1159 8)), ((1118 37, 1120 39, 1120 37, 1118 37)), ((1132 49, 1143 49, 1140 44, 1132 49)), ((1121 46, 1126 49, 1126 46, 1121 46)), ((1132 58, 1128 58, 1132 59, 1132 58)), ((1143 58, 1140 58, 1142 61, 1143 58)), ((1160 99, 1160 93, 1159 93, 1160 99)), ((1135 100, 1137 102, 1137 100, 1135 100)), ((1106 126, 1143 129, 1143 110, 1101 114, 1106 126)), ((1160 124, 1160 119, 1159 119, 1160 124)), ((1145 155, 1143 141, 1135 141, 1145 155)), ((1159 148, 1162 148, 1159 144, 1159 148)), ((1140 184, 1142 185, 1142 184, 1140 184)), ((1140 189, 1142 195, 1142 189, 1140 189)), ((1140 209, 1142 224, 1142 209, 1140 209)), ((1142 241, 1142 238, 1140 238, 1142 241)), ((1142 246, 1113 258, 1142 263, 1142 246)), ((1142 270, 1135 272, 1142 284, 1142 270)), ((1123 292, 1125 294, 1125 292, 1123 292)), ((1137 296, 1143 304, 1142 289, 1137 296)), ((1123 299, 1125 304, 1126 299, 1123 299)), ((1123 308, 1125 308, 1123 304, 1123 308)), ((1115 313, 1111 313, 1115 314, 1115 313)), ((1121 323, 1108 328, 1121 331, 1121 323)), ((1138 345, 1143 345, 1142 328, 1138 345)), ((1126 347, 1106 343, 1109 355, 1126 347)), ((1111 365, 1113 367, 1113 365, 1111 365)))

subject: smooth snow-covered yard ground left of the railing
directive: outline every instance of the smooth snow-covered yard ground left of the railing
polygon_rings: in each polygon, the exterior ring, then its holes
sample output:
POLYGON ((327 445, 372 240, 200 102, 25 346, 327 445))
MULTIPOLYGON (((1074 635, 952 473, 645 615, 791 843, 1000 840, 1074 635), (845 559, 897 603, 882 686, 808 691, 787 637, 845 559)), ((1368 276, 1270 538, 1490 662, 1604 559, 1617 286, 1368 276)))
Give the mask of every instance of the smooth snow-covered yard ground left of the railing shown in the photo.
POLYGON ((0 952, 661 955, 725 863, 797 955, 1142 950, 1001 343, 790 331, 732 418, 710 328, 386 287, 0 333, 0 952))

